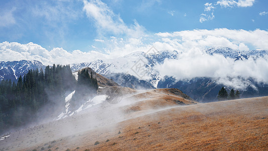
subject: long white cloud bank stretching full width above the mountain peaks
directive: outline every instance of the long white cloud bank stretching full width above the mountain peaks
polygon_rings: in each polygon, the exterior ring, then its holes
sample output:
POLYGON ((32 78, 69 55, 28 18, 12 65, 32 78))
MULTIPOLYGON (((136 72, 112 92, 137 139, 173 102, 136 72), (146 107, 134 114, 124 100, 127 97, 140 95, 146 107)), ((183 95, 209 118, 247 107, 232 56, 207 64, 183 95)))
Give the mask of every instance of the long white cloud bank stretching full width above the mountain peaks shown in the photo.
POLYGON ((96 59, 117 58, 134 51, 146 52, 152 45, 158 50, 178 50, 183 52, 212 46, 225 46, 235 50, 268 50, 267 39, 268 31, 264 30, 245 31, 222 28, 155 33, 139 38, 110 37, 105 40, 96 39, 96 42, 103 44, 104 50, 89 52, 80 50, 68 52, 63 48, 47 50, 31 42, 28 44, 3 42, 0 43, 0 59, 3 61, 38 60, 44 64, 90 62, 96 59))

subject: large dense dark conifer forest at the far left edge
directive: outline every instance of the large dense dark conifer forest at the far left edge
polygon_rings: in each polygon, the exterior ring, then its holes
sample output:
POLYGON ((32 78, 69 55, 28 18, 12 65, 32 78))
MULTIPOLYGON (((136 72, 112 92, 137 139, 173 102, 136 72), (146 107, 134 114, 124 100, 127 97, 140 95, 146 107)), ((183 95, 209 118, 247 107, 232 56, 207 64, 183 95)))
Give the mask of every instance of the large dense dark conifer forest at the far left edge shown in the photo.
POLYGON ((65 103, 65 92, 73 91, 76 80, 69 65, 31 69, 18 82, 0 81, 0 132, 35 120, 41 109, 54 110, 65 103))

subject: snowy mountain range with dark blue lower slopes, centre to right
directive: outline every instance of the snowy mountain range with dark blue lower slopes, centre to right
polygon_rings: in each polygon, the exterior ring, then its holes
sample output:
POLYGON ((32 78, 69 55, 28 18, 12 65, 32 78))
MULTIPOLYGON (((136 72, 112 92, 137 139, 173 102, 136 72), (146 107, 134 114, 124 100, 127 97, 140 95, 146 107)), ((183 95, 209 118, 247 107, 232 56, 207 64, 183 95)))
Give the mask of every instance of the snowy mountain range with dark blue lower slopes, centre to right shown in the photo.
MULTIPOLYGON (((210 55, 220 54, 234 61, 268 56, 267 50, 240 51, 220 46, 205 49, 204 52, 210 55)), ((115 59, 98 59, 90 62, 74 63, 70 66, 72 71, 90 67, 123 87, 136 89, 177 88, 195 100, 215 101, 219 89, 223 87, 223 85, 217 83, 217 79, 196 77, 190 80, 176 80, 174 77, 167 76, 161 78, 155 66, 162 64, 165 59, 180 59, 181 53, 181 51, 176 50, 162 50, 156 53, 138 51, 115 59), (135 71, 135 65, 139 61, 143 62, 144 70, 148 73, 144 77, 135 71)), ((0 79, 11 79, 12 81, 16 81, 20 75, 23 76, 29 69, 44 69, 45 67, 36 60, 1 61, 0 64, 0 79)), ((249 81, 253 86, 241 90, 241 97, 268 95, 268 92, 265 91, 268 88, 267 84, 258 83, 254 79, 242 80, 249 81)))

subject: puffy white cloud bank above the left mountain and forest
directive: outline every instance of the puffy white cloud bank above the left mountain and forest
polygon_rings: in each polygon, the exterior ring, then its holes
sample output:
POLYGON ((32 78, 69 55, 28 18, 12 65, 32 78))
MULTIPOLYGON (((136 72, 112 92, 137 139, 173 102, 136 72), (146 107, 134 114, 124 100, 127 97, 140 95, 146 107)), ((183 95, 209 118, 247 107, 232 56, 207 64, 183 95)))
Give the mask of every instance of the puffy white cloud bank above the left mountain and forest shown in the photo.
POLYGON ((38 44, 32 42, 20 44, 17 42, 0 43, 0 58, 2 61, 11 60, 38 60, 45 65, 70 64, 79 62, 88 62, 99 58, 106 59, 108 55, 97 52, 82 52, 74 50, 68 52, 62 48, 53 48, 48 51, 38 44))

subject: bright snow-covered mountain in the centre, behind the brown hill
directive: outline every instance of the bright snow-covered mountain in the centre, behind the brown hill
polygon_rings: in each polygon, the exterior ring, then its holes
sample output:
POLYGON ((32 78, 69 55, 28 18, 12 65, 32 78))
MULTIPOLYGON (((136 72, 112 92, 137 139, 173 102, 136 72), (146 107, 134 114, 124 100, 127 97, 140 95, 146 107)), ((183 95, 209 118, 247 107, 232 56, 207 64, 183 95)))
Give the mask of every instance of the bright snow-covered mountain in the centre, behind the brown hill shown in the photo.
POLYGON ((91 62, 83 62, 72 64, 72 71, 76 71, 80 68, 91 67, 97 73, 107 75, 112 73, 130 73, 135 75, 136 77, 142 77, 135 71, 136 64, 142 63, 144 65, 144 70, 147 71, 150 83, 156 88, 157 83, 160 80, 158 76, 158 71, 153 68, 156 64, 163 63, 164 59, 177 59, 179 53, 176 50, 168 51, 163 50, 157 53, 148 53, 138 51, 133 52, 123 57, 115 58, 115 59, 107 59, 107 60, 95 60, 91 62), (153 79, 150 79, 153 77, 153 79))

